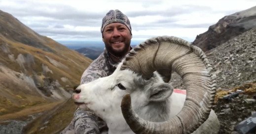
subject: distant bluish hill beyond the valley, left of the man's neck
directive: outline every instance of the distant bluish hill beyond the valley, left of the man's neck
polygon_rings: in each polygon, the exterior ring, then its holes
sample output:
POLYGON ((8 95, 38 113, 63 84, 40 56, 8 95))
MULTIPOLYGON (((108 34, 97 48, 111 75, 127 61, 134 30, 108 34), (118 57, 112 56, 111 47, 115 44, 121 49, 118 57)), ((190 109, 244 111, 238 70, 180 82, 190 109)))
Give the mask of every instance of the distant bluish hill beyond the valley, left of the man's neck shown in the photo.
POLYGON ((95 60, 99 57, 99 55, 103 52, 103 51, 96 51, 90 48, 80 48, 80 49, 75 49, 75 51, 77 51, 78 53, 92 59, 95 60))

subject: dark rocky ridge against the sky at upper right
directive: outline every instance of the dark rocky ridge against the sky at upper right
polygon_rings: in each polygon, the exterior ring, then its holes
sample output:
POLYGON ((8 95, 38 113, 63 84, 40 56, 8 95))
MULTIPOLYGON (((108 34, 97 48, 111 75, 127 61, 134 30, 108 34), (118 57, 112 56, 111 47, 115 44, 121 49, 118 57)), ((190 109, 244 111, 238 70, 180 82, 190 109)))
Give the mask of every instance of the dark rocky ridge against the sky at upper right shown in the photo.
POLYGON ((205 52, 252 28, 256 28, 256 6, 224 16, 207 32, 197 35, 193 44, 205 52))

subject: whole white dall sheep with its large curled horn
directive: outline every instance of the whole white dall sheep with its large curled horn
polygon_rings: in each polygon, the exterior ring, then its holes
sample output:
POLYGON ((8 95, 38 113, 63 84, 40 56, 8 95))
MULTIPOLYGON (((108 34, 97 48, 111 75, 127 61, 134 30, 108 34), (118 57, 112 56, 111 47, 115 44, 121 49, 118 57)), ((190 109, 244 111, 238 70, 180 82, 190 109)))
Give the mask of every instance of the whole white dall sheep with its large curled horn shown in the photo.
POLYGON ((73 99, 106 121, 109 134, 218 134, 215 78, 201 49, 159 36, 135 47, 110 76, 77 87, 73 99), (187 95, 154 72, 166 68, 181 75, 187 95))

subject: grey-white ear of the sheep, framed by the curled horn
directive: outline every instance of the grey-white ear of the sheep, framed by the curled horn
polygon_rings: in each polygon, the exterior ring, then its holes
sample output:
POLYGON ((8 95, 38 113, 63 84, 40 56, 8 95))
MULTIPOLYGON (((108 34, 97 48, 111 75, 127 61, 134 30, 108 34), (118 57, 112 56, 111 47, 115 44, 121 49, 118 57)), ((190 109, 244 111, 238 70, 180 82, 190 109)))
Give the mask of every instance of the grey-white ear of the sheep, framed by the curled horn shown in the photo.
POLYGON ((167 83, 157 84, 149 89, 149 101, 164 101, 173 93, 173 86, 167 83))

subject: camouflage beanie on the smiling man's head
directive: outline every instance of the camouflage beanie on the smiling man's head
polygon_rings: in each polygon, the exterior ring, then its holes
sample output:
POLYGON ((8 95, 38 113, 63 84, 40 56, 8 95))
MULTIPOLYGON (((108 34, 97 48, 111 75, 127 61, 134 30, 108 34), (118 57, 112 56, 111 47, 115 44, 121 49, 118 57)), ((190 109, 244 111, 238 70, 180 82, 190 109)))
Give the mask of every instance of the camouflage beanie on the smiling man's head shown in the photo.
POLYGON ((124 24, 130 30, 130 33, 132 34, 132 28, 131 28, 131 24, 130 24, 128 17, 125 14, 123 14, 121 11, 119 11, 118 9, 110 10, 106 14, 106 16, 102 19, 101 33, 103 33, 103 30, 105 29, 105 27, 107 25, 109 25, 110 23, 114 23, 114 22, 124 24))

